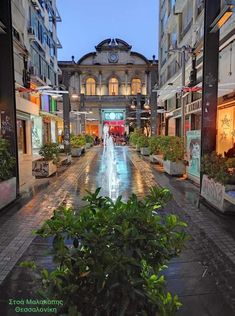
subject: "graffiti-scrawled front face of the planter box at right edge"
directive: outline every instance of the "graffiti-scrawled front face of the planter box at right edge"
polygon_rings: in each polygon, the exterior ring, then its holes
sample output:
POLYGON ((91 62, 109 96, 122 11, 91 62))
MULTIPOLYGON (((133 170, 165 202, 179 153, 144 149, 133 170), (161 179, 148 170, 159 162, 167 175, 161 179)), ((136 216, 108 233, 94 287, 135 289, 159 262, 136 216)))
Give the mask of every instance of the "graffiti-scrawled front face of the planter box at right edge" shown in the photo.
POLYGON ((206 175, 202 178, 201 195, 216 208, 223 210, 225 186, 209 179, 206 175))

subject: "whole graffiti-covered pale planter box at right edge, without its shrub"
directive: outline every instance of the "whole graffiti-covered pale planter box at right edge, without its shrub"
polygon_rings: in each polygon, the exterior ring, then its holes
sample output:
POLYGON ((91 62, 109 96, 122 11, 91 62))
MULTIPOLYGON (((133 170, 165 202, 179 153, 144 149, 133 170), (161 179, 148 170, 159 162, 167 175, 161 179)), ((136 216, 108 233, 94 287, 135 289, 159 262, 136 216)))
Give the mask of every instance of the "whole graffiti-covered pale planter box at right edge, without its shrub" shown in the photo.
POLYGON ((201 196, 215 209, 223 213, 235 212, 235 198, 229 194, 231 191, 235 191, 235 186, 224 186, 203 175, 201 196))

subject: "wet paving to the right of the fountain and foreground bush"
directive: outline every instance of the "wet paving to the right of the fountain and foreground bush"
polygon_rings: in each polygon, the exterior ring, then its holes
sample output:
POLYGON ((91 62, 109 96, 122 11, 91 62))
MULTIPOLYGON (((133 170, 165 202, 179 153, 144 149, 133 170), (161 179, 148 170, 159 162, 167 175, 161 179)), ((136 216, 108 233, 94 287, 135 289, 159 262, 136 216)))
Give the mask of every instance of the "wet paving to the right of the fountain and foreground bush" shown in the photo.
MULTIPOLYGON (((168 177, 157 170, 134 150, 129 152, 129 156, 135 167, 142 171, 147 186, 157 183, 171 190, 174 200, 165 211, 178 215, 188 224, 190 240, 187 249, 179 258, 172 260, 166 273, 169 289, 180 295, 184 303, 179 314, 235 315, 234 238, 226 231, 218 215, 212 214, 203 206, 197 208, 189 202, 185 192, 177 185, 177 181, 179 183, 181 180, 168 177)), ((190 182, 186 183, 189 190, 191 188, 197 191, 190 182)), ((230 220, 226 220, 229 224, 230 220)))

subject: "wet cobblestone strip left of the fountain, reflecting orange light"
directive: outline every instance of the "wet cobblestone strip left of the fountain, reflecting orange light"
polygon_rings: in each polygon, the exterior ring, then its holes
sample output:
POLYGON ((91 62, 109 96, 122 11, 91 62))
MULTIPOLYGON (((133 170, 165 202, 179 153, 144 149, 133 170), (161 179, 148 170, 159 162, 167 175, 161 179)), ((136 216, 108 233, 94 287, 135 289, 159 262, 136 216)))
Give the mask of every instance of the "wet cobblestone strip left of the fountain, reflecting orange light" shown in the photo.
POLYGON ((32 231, 40 228, 51 217, 53 210, 67 200, 68 192, 73 192, 74 183, 96 154, 96 148, 90 150, 60 175, 46 191, 38 193, 20 211, 0 224, 0 284, 35 238, 32 231))

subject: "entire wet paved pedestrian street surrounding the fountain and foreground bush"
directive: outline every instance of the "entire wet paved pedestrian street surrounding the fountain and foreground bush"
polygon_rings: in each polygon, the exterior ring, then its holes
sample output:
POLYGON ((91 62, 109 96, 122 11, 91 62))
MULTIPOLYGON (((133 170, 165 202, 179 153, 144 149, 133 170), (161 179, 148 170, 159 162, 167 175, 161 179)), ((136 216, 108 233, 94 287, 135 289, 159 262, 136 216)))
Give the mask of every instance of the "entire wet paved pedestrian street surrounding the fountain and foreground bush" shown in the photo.
POLYGON ((107 153, 102 147, 93 147, 58 177, 51 178, 29 202, 15 203, 0 214, 0 315, 17 315, 8 305, 10 298, 37 297, 33 275, 19 267, 21 261, 53 266, 51 256, 45 256, 50 240, 35 237, 32 231, 50 218, 54 209, 62 203, 79 209, 86 190, 97 187, 102 188, 102 195, 122 195, 126 200, 132 193, 143 197, 154 185, 171 190, 173 199, 164 212, 177 214, 187 222, 190 234, 186 249, 170 262, 166 273, 168 289, 183 302, 177 315, 234 315, 234 218, 221 217, 204 206, 198 209, 197 187, 168 177, 129 147, 116 146, 114 161, 115 190, 109 185, 112 175, 106 173, 107 153))

